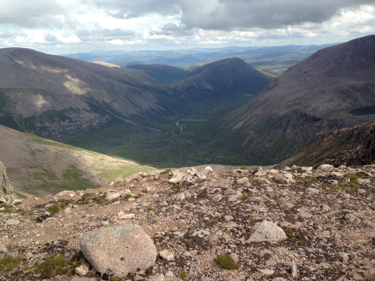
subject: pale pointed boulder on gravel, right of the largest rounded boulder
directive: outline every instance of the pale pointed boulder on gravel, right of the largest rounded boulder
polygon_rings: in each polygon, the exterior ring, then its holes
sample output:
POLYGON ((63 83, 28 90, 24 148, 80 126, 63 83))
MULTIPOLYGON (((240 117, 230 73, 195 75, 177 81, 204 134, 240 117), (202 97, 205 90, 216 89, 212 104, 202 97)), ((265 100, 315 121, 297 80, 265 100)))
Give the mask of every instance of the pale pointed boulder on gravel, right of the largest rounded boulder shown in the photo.
POLYGON ((268 220, 257 222, 255 224, 255 229, 255 232, 251 235, 250 239, 246 241, 246 243, 263 241, 277 243, 287 239, 284 230, 268 220))

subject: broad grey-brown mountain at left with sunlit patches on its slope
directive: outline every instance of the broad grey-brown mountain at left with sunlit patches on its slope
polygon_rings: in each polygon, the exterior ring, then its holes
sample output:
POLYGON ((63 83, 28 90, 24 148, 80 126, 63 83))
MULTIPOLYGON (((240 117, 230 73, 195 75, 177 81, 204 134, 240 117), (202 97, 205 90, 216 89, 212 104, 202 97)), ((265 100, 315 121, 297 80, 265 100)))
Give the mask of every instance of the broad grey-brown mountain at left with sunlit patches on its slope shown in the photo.
POLYGON ((23 48, 0 49, 0 123, 39 134, 75 132, 161 111, 147 74, 23 48))

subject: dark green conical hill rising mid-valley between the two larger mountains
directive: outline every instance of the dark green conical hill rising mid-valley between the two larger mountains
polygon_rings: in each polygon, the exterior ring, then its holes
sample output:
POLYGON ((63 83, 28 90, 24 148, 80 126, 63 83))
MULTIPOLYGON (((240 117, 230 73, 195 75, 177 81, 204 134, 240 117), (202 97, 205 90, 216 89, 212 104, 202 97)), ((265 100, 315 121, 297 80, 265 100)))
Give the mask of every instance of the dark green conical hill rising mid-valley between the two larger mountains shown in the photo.
POLYGON ((255 95, 274 79, 239 58, 206 64, 168 87, 168 94, 195 99, 239 98, 255 95))

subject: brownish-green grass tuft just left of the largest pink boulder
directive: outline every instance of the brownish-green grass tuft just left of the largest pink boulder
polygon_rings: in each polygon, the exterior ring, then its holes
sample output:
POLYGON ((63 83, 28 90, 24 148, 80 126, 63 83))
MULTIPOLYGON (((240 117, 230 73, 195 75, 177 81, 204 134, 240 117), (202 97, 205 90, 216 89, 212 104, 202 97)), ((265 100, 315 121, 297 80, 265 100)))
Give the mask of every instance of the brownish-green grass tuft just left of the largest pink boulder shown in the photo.
POLYGON ((78 263, 68 261, 61 256, 50 257, 37 265, 36 274, 40 274, 40 278, 53 278, 57 275, 74 275, 75 268, 78 263))

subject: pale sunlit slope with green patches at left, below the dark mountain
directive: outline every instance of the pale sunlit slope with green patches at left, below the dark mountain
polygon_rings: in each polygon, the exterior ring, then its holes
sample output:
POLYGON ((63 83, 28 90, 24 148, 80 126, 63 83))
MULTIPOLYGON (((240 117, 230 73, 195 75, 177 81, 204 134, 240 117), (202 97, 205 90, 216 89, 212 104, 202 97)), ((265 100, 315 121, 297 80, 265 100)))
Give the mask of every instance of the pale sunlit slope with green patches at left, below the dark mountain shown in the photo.
POLYGON ((23 194, 95 188, 156 170, 1 125, 0 160, 14 190, 23 194))

